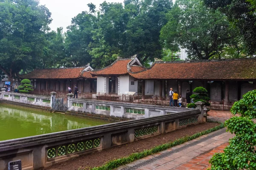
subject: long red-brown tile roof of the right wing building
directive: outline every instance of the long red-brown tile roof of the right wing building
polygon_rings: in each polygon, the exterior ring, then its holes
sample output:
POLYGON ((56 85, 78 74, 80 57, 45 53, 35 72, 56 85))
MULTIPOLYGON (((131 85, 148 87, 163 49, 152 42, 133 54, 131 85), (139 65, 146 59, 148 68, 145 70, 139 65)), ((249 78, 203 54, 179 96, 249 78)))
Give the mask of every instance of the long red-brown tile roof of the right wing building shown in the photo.
POLYGON ((256 79, 256 58, 155 62, 151 68, 129 73, 136 79, 256 79))

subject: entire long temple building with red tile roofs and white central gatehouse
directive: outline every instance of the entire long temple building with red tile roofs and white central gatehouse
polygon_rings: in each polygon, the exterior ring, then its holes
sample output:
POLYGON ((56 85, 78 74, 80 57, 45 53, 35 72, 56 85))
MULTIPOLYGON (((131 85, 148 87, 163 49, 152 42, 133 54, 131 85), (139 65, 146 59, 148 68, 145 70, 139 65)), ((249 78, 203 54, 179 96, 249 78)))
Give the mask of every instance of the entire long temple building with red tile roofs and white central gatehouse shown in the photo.
POLYGON ((245 93, 256 89, 256 58, 155 61, 150 68, 145 68, 133 56, 116 59, 99 70, 93 70, 90 65, 35 69, 21 78, 32 79, 37 94, 51 91, 67 94, 67 87, 73 89, 77 84, 79 91, 87 92, 87 98, 94 99, 97 95, 134 94, 168 100, 170 88, 185 98, 186 89, 192 91, 201 86, 207 89, 212 108, 224 109, 227 106, 228 110, 245 93), (95 92, 94 97, 88 97, 89 92, 95 92))

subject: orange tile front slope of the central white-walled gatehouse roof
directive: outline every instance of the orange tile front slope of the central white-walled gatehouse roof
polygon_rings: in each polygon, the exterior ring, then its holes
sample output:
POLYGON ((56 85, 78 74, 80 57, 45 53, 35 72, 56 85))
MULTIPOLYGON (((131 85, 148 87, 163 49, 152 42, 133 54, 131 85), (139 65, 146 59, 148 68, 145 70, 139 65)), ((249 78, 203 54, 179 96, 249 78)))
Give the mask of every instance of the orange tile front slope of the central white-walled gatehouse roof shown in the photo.
POLYGON ((92 75, 124 75, 128 74, 127 64, 132 59, 116 59, 111 65, 100 70, 91 71, 92 75))

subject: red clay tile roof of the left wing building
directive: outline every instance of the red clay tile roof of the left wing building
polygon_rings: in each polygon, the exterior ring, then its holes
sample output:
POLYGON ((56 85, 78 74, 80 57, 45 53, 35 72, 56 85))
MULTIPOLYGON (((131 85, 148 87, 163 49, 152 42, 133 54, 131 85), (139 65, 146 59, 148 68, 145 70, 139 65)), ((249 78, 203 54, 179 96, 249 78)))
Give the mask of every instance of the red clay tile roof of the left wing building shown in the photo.
POLYGON ((20 75, 20 77, 23 79, 75 79, 79 77, 95 79, 89 72, 84 72, 81 76, 83 70, 84 67, 35 69, 28 74, 20 75))

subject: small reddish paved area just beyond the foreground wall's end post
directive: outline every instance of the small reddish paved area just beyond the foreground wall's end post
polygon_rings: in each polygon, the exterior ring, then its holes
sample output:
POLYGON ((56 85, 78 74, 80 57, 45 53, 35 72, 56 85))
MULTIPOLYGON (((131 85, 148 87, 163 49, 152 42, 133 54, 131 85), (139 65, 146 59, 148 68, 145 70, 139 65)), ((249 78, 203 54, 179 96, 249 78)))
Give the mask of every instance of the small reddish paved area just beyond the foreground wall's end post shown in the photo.
POLYGON ((210 110, 208 112, 207 120, 225 122, 225 120, 233 117, 230 111, 221 111, 221 110, 210 110))

